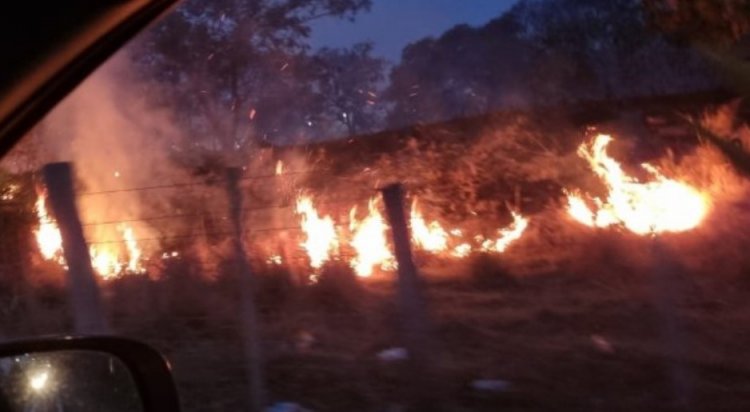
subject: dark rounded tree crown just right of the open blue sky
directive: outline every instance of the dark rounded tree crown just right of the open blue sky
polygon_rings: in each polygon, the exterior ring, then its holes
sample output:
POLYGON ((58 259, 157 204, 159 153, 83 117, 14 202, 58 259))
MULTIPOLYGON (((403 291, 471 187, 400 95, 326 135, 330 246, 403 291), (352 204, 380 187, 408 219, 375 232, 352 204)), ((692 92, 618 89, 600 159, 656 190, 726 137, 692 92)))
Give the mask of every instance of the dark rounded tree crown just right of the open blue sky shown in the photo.
POLYGON ((389 123, 397 126, 467 116, 523 99, 530 47, 503 16, 475 29, 458 25, 408 45, 390 74, 389 123))

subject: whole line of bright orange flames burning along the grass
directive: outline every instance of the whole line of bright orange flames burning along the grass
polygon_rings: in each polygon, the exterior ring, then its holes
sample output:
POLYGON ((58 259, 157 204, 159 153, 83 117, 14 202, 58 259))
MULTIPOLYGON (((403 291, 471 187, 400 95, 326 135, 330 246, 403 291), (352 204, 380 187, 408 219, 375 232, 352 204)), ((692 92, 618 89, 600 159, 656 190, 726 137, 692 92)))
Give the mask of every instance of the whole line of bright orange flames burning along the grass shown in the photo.
MULTIPOLYGON (((610 142, 609 136, 598 135, 580 145, 579 157, 601 179, 605 191, 603 195, 594 195, 568 190, 567 200, 563 201, 567 203, 567 215, 561 214, 566 206, 554 199, 544 210, 533 215, 515 211, 508 202, 504 207, 498 205, 498 209, 511 217, 510 222, 499 220, 488 225, 486 219, 480 216, 461 221, 446 219, 434 205, 427 208, 415 196, 409 211, 413 243, 418 255, 428 261, 437 259, 445 262, 465 259, 475 253, 493 253, 504 255, 503 260, 513 265, 526 265, 520 272, 534 272, 544 267, 559 267, 566 261, 576 259, 574 253, 570 252, 571 245, 585 243, 585 239, 590 237, 585 230, 575 228, 577 223, 598 227, 599 230, 608 227, 615 231, 627 229, 638 235, 689 230, 690 236, 666 238, 674 239, 669 242, 679 247, 692 249, 698 248, 701 242, 719 242, 721 238, 736 232, 734 222, 715 215, 729 214, 733 219, 744 216, 737 211, 744 208, 742 199, 747 193, 747 182, 733 171, 717 149, 699 145, 679 158, 667 152, 667 156, 644 164, 643 173, 635 177, 607 153, 610 142), (430 218, 426 217, 428 215, 430 218), (508 252, 509 247, 511 250, 508 252), (545 250, 540 252, 540 248, 545 250)), ((303 278, 312 282, 319 279, 323 266, 333 261, 348 262, 360 277, 374 273, 387 274, 394 270, 389 229, 377 198, 370 198, 365 209, 352 206, 348 213, 348 224, 344 224, 346 220, 341 218, 345 216, 341 210, 345 205, 331 208, 326 204, 316 204, 318 202, 305 193, 298 195, 295 202, 294 210, 301 229, 299 247, 292 255, 286 247, 278 249, 261 245, 254 249, 263 254, 259 258, 265 259, 266 263, 286 266, 291 272, 302 273, 303 278), (282 250, 283 254, 271 252, 273 250, 282 250), (304 256, 306 263, 295 257, 299 255, 304 256)), ((38 197, 36 210, 40 219, 36 235, 43 256, 64 265, 59 231, 49 216, 43 194, 38 197)), ((493 215, 497 214, 496 211, 493 215)), ((496 220, 497 217, 493 215, 489 217, 496 220)), ((147 265, 153 267, 153 263, 147 263, 148 259, 153 258, 144 256, 133 228, 125 224, 114 228, 119 231, 122 242, 113 242, 112 248, 104 248, 96 242, 91 246, 92 264, 97 272, 103 278, 111 278, 144 273, 147 265)), ((286 242, 294 238, 286 236, 286 242)), ((272 234, 263 243, 273 244, 276 242, 274 239, 272 234)), ((732 248, 725 246, 722 251, 732 248)), ((741 247, 734 247, 734 250, 730 253, 731 262, 734 263, 724 266, 736 264, 744 267, 741 247)), ((162 254, 161 258, 171 258, 175 254, 179 255, 173 251, 162 254)), ((697 253, 701 259, 696 259, 695 254, 690 253, 686 260, 694 266, 706 265, 714 254, 714 251, 697 253), (697 260, 701 263, 696 263, 697 260)), ((726 253, 719 254, 726 257, 726 253)))

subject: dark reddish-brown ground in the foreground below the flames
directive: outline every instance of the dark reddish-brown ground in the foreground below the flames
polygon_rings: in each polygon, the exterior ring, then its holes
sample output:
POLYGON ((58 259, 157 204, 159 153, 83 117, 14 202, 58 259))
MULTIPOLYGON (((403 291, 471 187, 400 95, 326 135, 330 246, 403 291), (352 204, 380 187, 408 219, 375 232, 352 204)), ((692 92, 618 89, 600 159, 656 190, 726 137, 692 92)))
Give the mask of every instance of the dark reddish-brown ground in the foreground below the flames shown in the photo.
MULTIPOLYGON (((425 262, 433 350, 431 372, 420 381, 437 405, 746 410, 750 278, 688 273, 668 257, 638 265, 606 253, 589 260, 588 269, 521 277, 502 265, 480 266, 495 272, 485 276, 465 263, 425 262), (472 389, 477 379, 505 387, 472 389)), ((136 316, 135 306, 119 306, 111 294, 115 327, 167 354, 185 409, 240 408, 244 368, 231 280, 130 282, 117 286, 121 296, 137 292, 151 303, 136 316)), ((315 411, 402 410, 405 364, 377 357, 401 346, 394 287, 392 277, 299 290, 264 284, 271 398, 315 411)))

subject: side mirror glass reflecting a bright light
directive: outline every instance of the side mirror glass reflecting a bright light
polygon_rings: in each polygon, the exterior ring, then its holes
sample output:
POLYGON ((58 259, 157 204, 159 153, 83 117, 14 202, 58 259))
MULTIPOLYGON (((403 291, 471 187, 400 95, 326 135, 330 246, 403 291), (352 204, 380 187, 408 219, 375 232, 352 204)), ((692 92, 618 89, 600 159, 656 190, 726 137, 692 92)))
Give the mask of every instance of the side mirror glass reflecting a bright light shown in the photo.
POLYGON ((0 412, 139 412, 127 366, 95 351, 28 353, 0 358, 0 412))

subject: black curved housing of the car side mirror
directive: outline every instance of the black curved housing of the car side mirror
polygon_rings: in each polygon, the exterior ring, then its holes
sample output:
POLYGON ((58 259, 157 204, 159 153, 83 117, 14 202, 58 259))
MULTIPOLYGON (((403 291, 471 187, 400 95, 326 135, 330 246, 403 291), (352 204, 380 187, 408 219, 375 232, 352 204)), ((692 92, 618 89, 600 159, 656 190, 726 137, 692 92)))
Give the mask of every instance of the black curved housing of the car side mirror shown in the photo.
POLYGON ((180 410, 169 363, 156 349, 145 343, 112 336, 92 336, 41 338, 0 344, 0 358, 61 351, 93 351, 111 355, 130 372, 143 411, 180 410))

